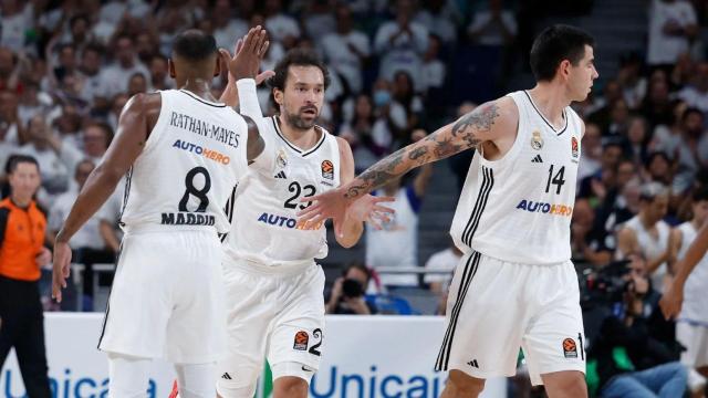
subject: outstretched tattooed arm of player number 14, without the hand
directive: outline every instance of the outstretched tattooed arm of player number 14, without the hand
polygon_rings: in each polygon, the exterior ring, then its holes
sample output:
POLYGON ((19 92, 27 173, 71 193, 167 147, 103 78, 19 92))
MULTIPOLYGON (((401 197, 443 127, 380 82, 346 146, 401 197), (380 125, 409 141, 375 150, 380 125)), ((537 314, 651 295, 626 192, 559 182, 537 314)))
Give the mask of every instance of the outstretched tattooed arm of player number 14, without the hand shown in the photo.
POLYGON ((445 159, 483 142, 493 143, 504 135, 516 135, 518 118, 511 98, 485 103, 457 122, 379 160, 342 187, 345 189, 344 196, 354 200, 413 168, 445 159))

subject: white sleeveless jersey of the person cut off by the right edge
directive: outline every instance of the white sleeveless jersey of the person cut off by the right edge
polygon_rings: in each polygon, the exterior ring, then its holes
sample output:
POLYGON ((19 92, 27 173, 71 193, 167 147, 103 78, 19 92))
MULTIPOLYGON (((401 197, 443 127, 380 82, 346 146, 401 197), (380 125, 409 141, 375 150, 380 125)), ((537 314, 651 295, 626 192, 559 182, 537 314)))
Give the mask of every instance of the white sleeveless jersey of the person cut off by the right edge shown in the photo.
MULTIPOLYGON (((681 231, 681 245, 678 249, 677 258, 683 260, 686 251, 696 240, 696 228, 690 222, 684 222, 677 227, 681 231)), ((708 306, 705 305, 704 296, 708 290, 708 254, 704 255, 696 268, 691 271, 684 285, 684 305, 679 320, 700 322, 708 326, 708 306)))

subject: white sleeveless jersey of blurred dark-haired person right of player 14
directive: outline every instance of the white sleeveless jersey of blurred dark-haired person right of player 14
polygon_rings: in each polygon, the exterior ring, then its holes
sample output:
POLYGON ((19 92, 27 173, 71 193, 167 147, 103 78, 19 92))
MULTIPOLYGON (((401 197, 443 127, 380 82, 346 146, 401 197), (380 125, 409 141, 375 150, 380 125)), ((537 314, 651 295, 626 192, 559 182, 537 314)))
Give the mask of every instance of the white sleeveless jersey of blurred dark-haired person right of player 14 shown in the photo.
MULTIPOLYGON (((668 237, 671 232, 671 229, 665 221, 659 220, 656 223, 658 239, 654 239, 649 231, 644 228, 639 216, 634 216, 633 218, 631 218, 625 223, 625 228, 629 228, 636 234, 637 243, 639 244, 642 254, 646 260, 653 260, 660 256, 668 248, 668 237)), ((626 256, 626 253, 622 253, 620 250, 617 250, 616 254, 618 260, 626 256)), ((663 262, 650 275, 654 289, 659 292, 663 291, 664 276, 666 276, 666 262, 663 262)))

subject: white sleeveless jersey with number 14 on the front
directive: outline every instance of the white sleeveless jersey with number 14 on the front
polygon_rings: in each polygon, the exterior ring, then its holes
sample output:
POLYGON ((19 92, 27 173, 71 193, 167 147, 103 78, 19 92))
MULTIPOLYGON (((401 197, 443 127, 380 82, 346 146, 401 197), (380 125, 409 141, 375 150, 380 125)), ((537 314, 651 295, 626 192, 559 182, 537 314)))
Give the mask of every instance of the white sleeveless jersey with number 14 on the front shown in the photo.
POLYGON ((450 234, 464 252, 523 264, 564 262, 582 121, 565 107, 565 124, 555 130, 527 92, 508 96, 519 109, 517 139, 498 160, 475 153, 450 234))

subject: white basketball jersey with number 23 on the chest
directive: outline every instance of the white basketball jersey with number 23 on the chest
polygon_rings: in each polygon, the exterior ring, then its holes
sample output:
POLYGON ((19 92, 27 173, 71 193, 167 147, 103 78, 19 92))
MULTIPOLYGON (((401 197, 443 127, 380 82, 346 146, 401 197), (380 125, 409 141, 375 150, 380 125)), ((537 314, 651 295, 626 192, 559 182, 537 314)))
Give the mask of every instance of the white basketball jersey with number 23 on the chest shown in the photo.
POLYGON ((270 172, 251 169, 239 182, 233 223, 226 241, 226 253, 261 265, 279 266, 314 261, 327 255, 326 229, 298 220, 309 206, 300 199, 340 186, 340 148, 336 137, 315 127, 320 140, 302 150, 281 133, 278 117, 260 124, 266 154, 274 158, 270 172))

